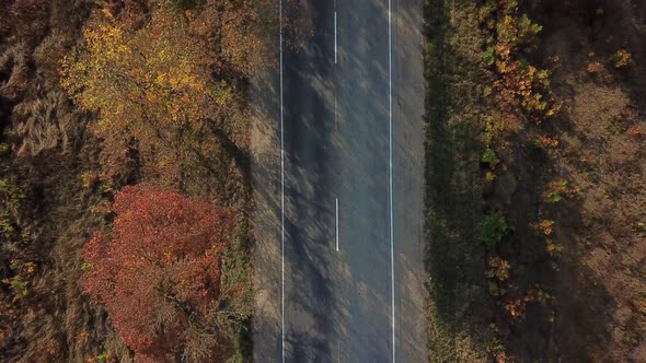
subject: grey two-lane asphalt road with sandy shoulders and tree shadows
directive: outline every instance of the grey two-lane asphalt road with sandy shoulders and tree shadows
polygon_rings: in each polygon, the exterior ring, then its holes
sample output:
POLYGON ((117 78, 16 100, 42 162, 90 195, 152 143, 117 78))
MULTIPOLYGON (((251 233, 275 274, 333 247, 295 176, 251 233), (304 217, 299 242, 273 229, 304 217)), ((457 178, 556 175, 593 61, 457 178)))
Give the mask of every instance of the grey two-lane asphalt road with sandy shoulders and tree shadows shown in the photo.
POLYGON ((422 1, 308 5, 314 35, 256 80, 282 121, 252 138, 254 359, 422 362, 422 1))

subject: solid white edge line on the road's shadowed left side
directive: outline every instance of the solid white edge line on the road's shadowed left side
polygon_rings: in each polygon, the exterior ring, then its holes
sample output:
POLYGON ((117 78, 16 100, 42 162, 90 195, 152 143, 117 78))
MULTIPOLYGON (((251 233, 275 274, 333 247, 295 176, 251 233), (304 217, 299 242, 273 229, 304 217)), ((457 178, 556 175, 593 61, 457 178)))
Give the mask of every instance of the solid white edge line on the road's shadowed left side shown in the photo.
POLYGON ((280 340, 285 363, 285 138, 282 133, 282 0, 278 1, 278 26, 280 33, 280 340))

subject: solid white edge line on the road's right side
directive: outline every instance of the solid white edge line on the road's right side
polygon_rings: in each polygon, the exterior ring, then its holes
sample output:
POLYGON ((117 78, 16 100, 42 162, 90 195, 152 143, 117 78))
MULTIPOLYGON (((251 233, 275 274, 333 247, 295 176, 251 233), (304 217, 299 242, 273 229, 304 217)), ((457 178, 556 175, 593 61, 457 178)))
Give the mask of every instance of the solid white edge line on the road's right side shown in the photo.
POLYGON ((392 145, 392 0, 388 0, 388 98, 389 98, 389 198, 390 198, 390 262, 391 262, 391 309, 392 309, 392 349, 395 362, 395 255, 393 233, 393 145, 392 145))

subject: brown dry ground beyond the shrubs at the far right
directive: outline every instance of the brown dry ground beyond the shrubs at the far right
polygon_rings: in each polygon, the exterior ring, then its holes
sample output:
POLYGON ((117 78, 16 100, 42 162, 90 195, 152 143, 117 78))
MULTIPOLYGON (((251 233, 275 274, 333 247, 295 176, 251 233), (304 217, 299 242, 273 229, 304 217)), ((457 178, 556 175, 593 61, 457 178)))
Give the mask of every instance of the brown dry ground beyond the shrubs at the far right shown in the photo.
POLYGON ((552 340, 567 362, 644 362, 646 2, 542 1, 530 11, 564 104, 553 172, 579 190, 556 211, 564 250, 552 340), (632 61, 616 68, 620 49, 632 61))

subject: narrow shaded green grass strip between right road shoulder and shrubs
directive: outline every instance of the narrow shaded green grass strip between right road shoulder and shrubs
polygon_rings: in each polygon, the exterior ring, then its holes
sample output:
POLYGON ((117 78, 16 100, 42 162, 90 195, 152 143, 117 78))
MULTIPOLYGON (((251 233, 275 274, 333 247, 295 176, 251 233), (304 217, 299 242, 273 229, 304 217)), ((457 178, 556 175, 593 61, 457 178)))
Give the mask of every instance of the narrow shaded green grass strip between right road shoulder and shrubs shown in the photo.
POLYGON ((484 34, 472 1, 426 2, 426 266, 430 362, 485 362, 491 296, 478 162, 484 34))

